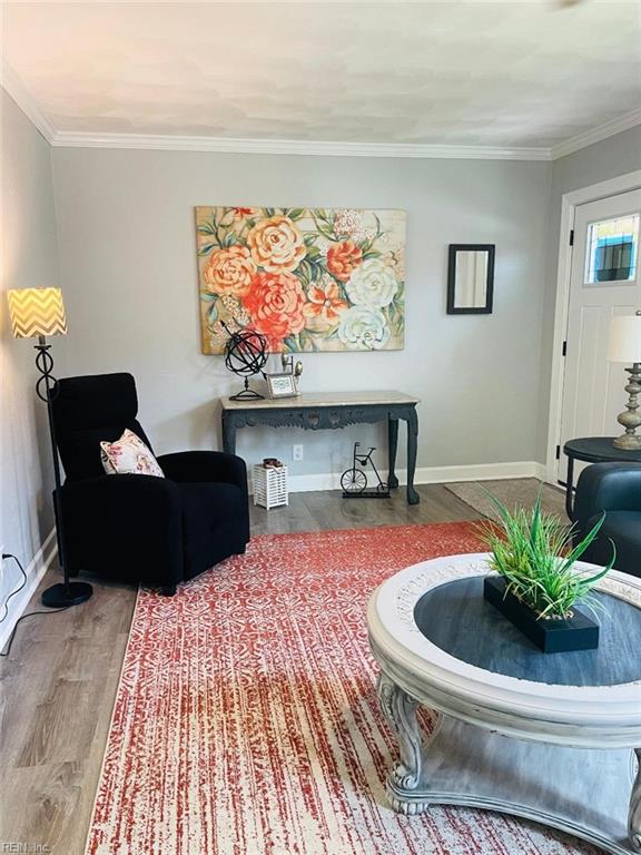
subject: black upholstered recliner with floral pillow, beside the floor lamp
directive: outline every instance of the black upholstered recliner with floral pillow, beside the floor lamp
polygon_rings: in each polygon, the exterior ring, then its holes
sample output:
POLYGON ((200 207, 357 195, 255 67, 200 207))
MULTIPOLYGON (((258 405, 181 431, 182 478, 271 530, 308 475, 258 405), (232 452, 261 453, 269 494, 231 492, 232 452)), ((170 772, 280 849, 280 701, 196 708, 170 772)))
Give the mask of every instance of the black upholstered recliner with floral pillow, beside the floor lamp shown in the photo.
POLYGON ((59 381, 53 421, 67 479, 61 490, 67 563, 141 581, 164 593, 193 579, 249 541, 245 462, 217 451, 158 458, 166 478, 107 475, 100 441, 128 428, 148 446, 138 423, 130 374, 59 381))

